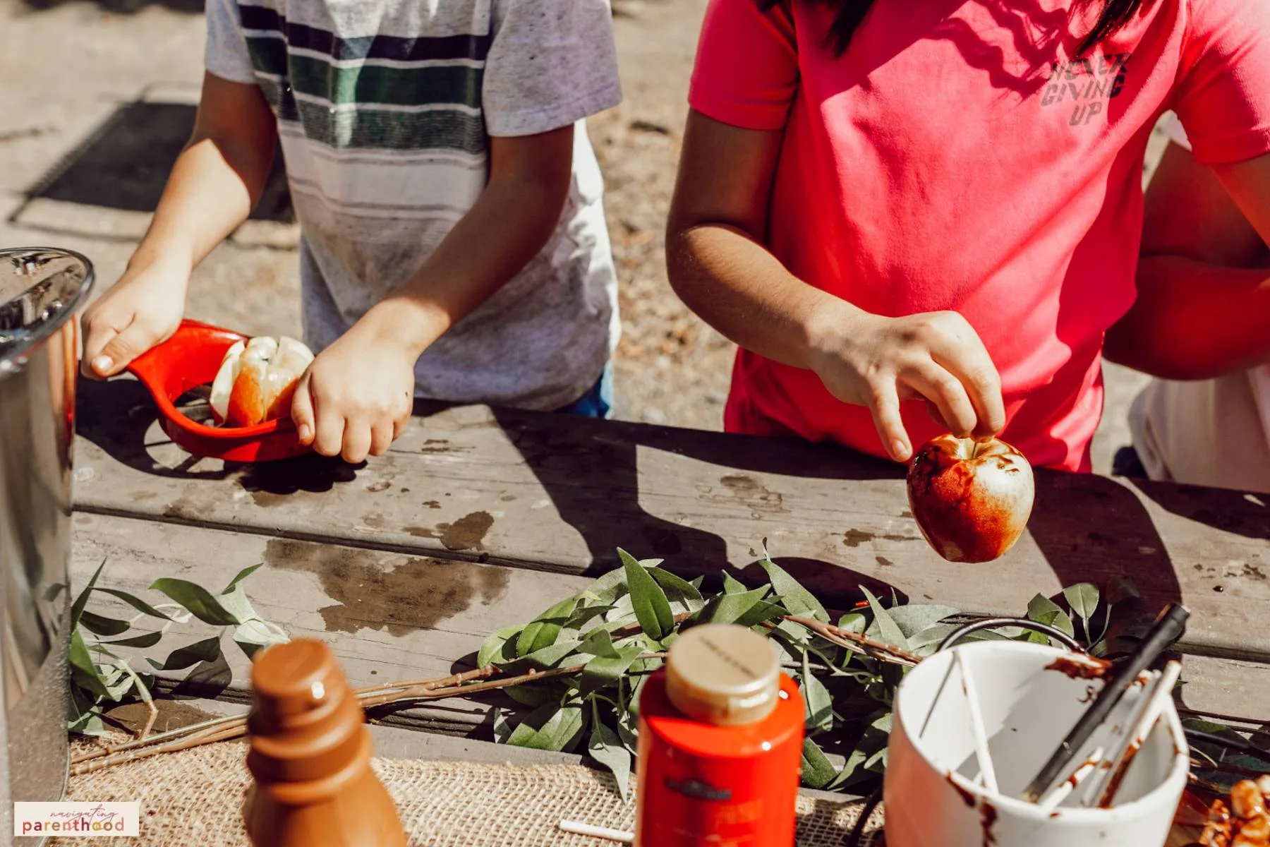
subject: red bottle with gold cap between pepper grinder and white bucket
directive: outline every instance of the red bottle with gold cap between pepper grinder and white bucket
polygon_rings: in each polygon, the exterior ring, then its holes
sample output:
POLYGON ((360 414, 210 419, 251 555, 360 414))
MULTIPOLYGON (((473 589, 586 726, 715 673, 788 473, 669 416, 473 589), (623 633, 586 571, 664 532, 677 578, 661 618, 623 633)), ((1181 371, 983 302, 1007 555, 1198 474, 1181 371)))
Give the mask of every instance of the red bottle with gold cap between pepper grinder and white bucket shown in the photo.
POLYGON ((640 695, 636 847, 794 844, 803 715, 767 637, 687 630, 640 695))

